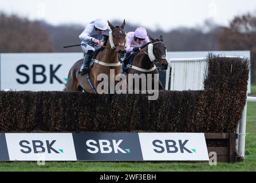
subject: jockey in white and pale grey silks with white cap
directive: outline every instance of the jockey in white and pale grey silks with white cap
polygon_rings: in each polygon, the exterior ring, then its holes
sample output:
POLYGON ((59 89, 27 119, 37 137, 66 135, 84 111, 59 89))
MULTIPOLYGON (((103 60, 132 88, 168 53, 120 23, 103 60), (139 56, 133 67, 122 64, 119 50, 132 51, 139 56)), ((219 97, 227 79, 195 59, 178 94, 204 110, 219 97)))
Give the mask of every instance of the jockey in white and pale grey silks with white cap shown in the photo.
MULTIPOLYGON (((96 45, 82 45, 82 50, 84 51, 84 67, 82 68, 81 75, 88 73, 89 71, 89 57, 93 51, 100 49, 104 44, 101 40, 104 40, 104 35, 109 35, 110 27, 107 22, 103 19, 96 19, 90 22, 85 30, 79 35, 81 43, 96 43, 96 45)), ((104 40, 105 41, 105 40, 104 40)))

